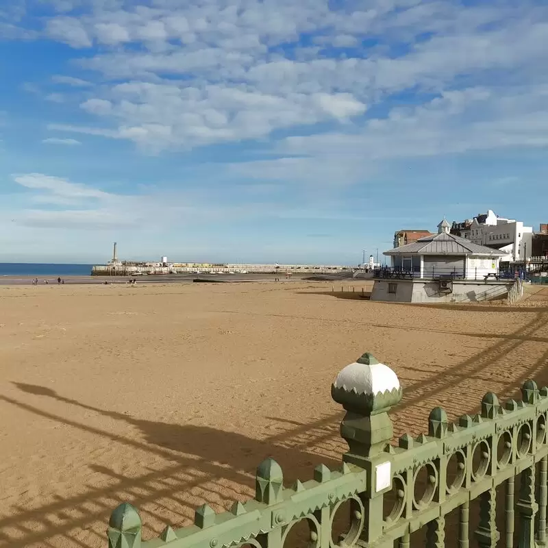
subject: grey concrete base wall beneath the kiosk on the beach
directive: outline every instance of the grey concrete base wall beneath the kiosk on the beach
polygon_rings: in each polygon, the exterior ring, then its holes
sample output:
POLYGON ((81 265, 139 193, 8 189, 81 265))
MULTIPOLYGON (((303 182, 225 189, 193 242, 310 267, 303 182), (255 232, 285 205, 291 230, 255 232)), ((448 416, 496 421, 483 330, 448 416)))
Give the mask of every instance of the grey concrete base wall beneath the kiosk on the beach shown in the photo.
POLYGON ((453 282, 453 292, 440 291, 439 282, 422 279, 377 279, 371 292, 372 301, 397 303, 474 303, 505 297, 513 282, 453 282), (396 293, 388 292, 396 284, 396 293))

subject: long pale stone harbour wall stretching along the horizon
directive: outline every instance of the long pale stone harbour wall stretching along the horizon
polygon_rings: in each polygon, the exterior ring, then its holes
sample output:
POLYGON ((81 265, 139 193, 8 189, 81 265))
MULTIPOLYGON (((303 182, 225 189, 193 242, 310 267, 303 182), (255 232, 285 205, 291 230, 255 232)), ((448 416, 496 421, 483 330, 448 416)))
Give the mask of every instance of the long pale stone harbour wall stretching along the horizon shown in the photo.
POLYGON ((352 271, 349 266, 304 265, 304 264, 212 264, 210 266, 159 266, 154 264, 100 264, 92 266, 92 276, 132 276, 148 274, 214 274, 214 273, 279 273, 327 274, 352 271))

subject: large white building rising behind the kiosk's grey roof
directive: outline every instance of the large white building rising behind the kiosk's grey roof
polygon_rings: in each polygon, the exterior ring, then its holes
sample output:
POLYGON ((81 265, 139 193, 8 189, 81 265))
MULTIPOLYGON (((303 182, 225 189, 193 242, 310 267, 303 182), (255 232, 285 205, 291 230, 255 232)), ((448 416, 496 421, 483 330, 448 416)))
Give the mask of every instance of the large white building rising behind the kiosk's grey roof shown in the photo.
POLYGON ((477 245, 499 249, 503 261, 523 261, 531 255, 533 227, 515 219, 499 217, 488 210, 463 223, 453 223, 451 234, 471 240, 477 245))

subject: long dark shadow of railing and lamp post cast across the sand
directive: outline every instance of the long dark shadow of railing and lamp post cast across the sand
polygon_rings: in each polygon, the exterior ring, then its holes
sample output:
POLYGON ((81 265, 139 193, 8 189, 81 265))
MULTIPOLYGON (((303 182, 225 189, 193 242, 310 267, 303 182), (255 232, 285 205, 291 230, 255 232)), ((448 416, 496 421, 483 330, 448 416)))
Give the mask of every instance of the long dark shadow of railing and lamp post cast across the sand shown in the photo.
MULTIPOLYGON (((415 403, 420 403, 423 399, 427 399, 432 397, 432 395, 436 395, 443 390, 451 388, 453 384, 464 378, 476 375, 479 371, 482 371, 482 369, 485 369, 487 366, 497 362, 500 358, 503 358, 506 353, 518 349, 520 345, 523 345, 523 343, 528 340, 537 342, 534 333, 546 324, 548 314, 538 312, 538 309, 536 309, 536 312, 537 314, 532 321, 519 329, 516 329, 514 333, 505 336, 501 341, 500 339, 497 340, 497 343, 484 349, 484 351, 477 353, 472 358, 460 362, 460 364, 436 373, 429 379, 417 382, 406 388, 404 390, 404 395, 406 395, 405 400, 395 409, 395 411, 400 412, 415 403)), ((486 338, 491 337, 492 336, 490 335, 486 335, 486 338)), ((532 364, 530 368, 523 371, 523 376, 525 378, 531 377, 531 374, 534 375, 534 373, 537 373, 538 371, 543 371, 544 377, 547 373, 547 361, 548 351, 543 353, 543 356, 532 364)), ((517 379, 512 379, 512 382, 508 384, 508 390, 517 388, 515 384, 516 381, 517 379)), ((215 480, 223 482, 228 481, 240 486, 247 486, 249 492, 253 484, 253 473, 256 469, 256 465, 265 456, 273 456, 273 458, 284 466, 284 472, 286 473, 286 479, 288 481, 295 479, 298 476, 300 477, 301 473, 303 473, 304 469, 308 466, 310 466, 308 469, 308 475, 310 475, 312 473, 312 465, 319 464, 320 459, 318 459, 316 455, 313 455, 312 452, 308 451, 308 449, 317 446, 322 440, 334 438, 334 436, 336 436, 336 429, 338 428, 335 421, 340 420, 341 416, 341 413, 336 413, 308 424, 290 421, 288 423, 290 429, 270 436, 264 441, 260 441, 247 438, 241 434, 219 432, 218 430, 209 427, 171 425, 135 419, 119 412, 101 410, 99 408, 87 406, 74 399, 58 395, 55 391, 42 386, 22 383, 16 383, 16 386, 26 394, 52 398, 66 403, 69 406, 77 406, 79 408, 97 412, 103 416, 108 416, 112 419, 124 421, 125 423, 140 429, 140 432, 145 439, 145 443, 132 438, 117 436, 111 432, 45 412, 44 410, 30 406, 23 401, 4 396, 0 396, 0 399, 46 419, 58 421, 97 436, 109 438, 116 443, 121 443, 125 447, 149 451, 171 463, 161 470, 151 470, 145 475, 132 478, 117 474, 107 468, 95 466, 95 471, 108 475, 112 482, 115 482, 114 486, 110 485, 107 488, 86 486, 86 492, 82 495, 70 497, 69 499, 58 499, 55 503, 44 505, 41 508, 33 510, 15 508, 16 514, 0 519, 0 540, 8 543, 10 547, 16 548, 28 547, 32 543, 40 543, 40 546, 51 545, 49 539, 56 535, 66 536, 66 538, 70 539, 71 543, 82 547, 99 545, 97 543, 97 538, 95 537, 95 540, 79 540, 73 536, 69 537, 67 535, 72 530, 85 529, 86 526, 95 523, 98 519, 105 521, 112 508, 114 508, 121 498, 135 500, 139 505, 148 502, 156 503, 159 499, 164 498, 173 501, 177 508, 185 509, 186 506, 188 506, 188 503, 184 503, 177 498, 177 493, 181 493, 182 488, 184 488, 185 492, 188 492, 188 490, 199 487, 202 493, 201 497, 205 501, 210 500, 212 506, 218 506, 221 497, 219 491, 215 490, 212 486, 206 487, 205 485, 210 484, 215 480), (318 435, 310 436, 312 429, 316 429, 318 435), (299 441, 303 438, 304 440, 298 447, 288 447, 288 444, 296 438, 299 438, 299 441), (197 464, 195 459, 188 458, 184 456, 185 454, 197 456, 201 458, 201 460, 199 460, 197 464), (176 464, 173 464, 174 460, 176 461, 176 464), (196 474, 190 481, 186 481, 184 486, 181 486, 180 484, 177 486, 176 482, 179 481, 177 479, 177 474, 188 474, 188 470, 195 469, 197 465, 199 466, 201 473, 196 474), (207 477, 204 477, 203 473, 206 473, 207 477), (168 481, 169 479, 172 481, 168 481), (145 490, 145 494, 142 493, 142 490, 145 490), (210 494, 208 495, 208 493, 210 494), (89 509, 90 503, 95 505, 93 510, 89 509), (60 515, 63 512, 68 514, 68 517, 63 523, 52 524, 46 517, 49 514, 60 515), (76 514, 74 512, 76 512, 76 514), (36 531, 29 527, 25 527, 23 524, 28 522, 40 523, 42 530, 36 531), (14 527, 18 529, 16 538, 4 532, 6 528, 10 529, 14 527)), ((460 412, 468 411, 468 409, 460 410, 460 412)), ((277 420, 281 421, 282 419, 277 420)), ((324 460, 325 464, 328 466, 336 466, 339 464, 339 461, 334 459, 323 458, 321 460, 324 460)), ((303 477, 301 479, 306 478, 303 477)), ((240 497, 240 499, 246 498, 245 496, 242 497, 242 493, 236 490, 233 495, 231 495, 231 498, 234 500, 238 499, 238 497, 240 497)), ((155 504, 155 508, 159 508, 162 513, 168 511, 173 512, 173 510, 158 506, 158 504, 155 504)), ((185 510, 185 512, 186 513, 179 514, 179 518, 176 518, 177 521, 183 519, 188 522, 190 513, 188 512, 188 509, 185 510)), ((158 514, 155 514, 151 510, 147 510, 147 514, 158 521, 162 519, 162 516, 158 516, 158 514)), ((180 525, 180 523, 177 523, 177 525, 180 525)), ((154 534, 158 534, 158 532, 159 530, 153 530, 154 534)), ((97 536, 97 533, 94 534, 97 536)))

